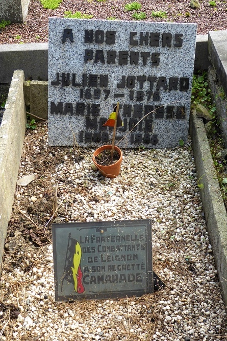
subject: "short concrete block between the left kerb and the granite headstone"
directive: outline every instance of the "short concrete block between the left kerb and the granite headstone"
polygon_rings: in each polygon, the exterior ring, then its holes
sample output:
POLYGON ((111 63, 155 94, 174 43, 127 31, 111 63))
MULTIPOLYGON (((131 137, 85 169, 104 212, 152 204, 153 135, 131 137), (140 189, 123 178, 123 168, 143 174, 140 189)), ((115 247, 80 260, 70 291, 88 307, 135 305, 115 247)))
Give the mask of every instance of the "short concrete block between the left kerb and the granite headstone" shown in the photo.
POLYGON ((47 119, 48 81, 23 82, 24 100, 31 115, 47 119))

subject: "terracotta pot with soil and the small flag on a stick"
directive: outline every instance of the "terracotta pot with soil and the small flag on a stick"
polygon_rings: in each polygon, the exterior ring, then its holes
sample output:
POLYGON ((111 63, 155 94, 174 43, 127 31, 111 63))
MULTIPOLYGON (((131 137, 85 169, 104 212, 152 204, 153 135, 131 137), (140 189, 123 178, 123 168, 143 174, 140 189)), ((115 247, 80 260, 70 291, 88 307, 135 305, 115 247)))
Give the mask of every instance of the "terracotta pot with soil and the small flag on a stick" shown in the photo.
POLYGON ((122 152, 120 148, 114 145, 116 128, 123 126, 120 115, 118 115, 118 111, 119 102, 117 102, 117 105, 115 106, 113 112, 111 112, 107 122, 104 123, 104 126, 110 126, 114 128, 112 145, 105 145, 97 148, 94 151, 92 157, 92 161, 100 173, 102 173, 105 177, 110 178, 114 178, 119 175, 122 161, 122 152))

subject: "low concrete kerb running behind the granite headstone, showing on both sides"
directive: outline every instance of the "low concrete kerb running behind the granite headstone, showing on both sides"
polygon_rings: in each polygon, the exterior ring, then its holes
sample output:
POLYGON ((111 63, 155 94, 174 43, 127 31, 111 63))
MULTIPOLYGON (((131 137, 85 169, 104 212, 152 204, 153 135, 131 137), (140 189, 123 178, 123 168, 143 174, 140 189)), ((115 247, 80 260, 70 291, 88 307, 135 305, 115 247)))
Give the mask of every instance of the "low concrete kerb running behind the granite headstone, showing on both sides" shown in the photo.
MULTIPOLYGON (((0 44, 0 65, 4 70, 0 73, 0 84, 10 83, 13 71, 17 69, 24 71, 26 80, 47 80, 48 43, 0 44)), ((208 35, 199 34, 196 36, 194 72, 207 70, 209 65, 208 35)))

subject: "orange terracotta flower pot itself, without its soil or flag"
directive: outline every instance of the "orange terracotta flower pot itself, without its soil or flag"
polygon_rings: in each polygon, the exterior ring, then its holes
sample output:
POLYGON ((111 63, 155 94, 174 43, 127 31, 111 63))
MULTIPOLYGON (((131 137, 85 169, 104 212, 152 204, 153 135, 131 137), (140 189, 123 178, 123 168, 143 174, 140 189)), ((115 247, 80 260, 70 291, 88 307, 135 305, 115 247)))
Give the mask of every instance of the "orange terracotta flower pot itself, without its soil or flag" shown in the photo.
POLYGON ((100 173, 103 174, 103 176, 114 178, 114 177, 117 177, 117 175, 119 175, 119 173, 120 173, 120 165, 121 165, 121 161, 122 161, 122 152, 121 152, 120 148, 118 148, 117 146, 114 146, 114 150, 116 150, 120 156, 119 160, 116 161, 114 164, 109 165, 109 166, 103 166, 103 165, 99 165, 95 161, 95 156, 100 154, 103 150, 111 149, 111 147, 112 147, 112 145, 105 145, 105 146, 102 146, 102 147, 99 147, 98 149, 96 149, 95 152, 93 153, 92 161, 95 164, 95 166, 98 168, 100 173))

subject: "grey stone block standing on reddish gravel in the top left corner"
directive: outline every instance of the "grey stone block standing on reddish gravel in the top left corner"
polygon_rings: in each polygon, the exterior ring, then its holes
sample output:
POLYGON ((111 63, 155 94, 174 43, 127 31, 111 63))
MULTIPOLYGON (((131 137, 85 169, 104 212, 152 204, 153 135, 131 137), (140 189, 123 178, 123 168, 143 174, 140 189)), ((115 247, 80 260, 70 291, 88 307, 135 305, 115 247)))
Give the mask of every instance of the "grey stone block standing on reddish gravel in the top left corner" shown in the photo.
POLYGON ((0 0, 0 21, 24 22, 29 4, 30 0, 0 0))

